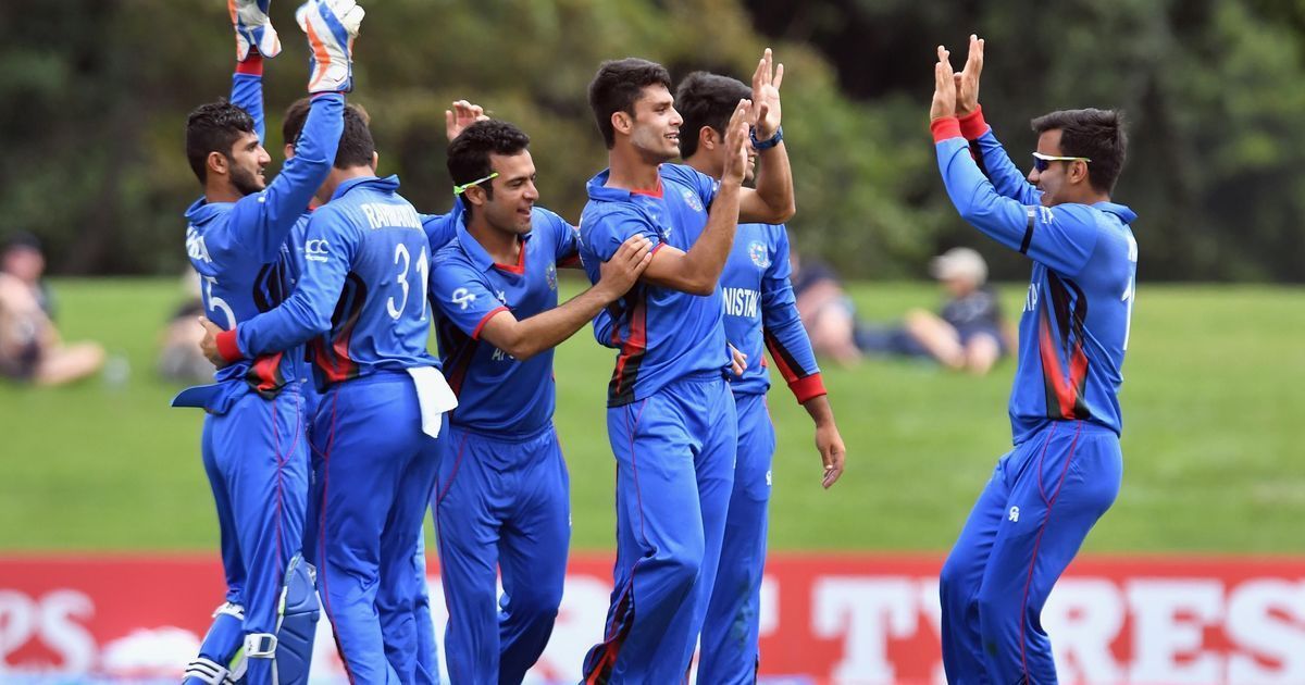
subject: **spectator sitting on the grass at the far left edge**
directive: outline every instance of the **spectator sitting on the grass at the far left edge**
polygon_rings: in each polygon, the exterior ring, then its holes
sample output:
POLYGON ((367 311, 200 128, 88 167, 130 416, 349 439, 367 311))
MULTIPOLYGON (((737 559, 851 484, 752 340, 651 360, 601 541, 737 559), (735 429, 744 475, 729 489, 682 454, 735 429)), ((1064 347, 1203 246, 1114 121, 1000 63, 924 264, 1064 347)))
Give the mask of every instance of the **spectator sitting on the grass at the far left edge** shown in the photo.
POLYGON ((35 236, 18 234, 0 248, 0 377, 64 385, 104 365, 97 343, 64 343, 40 277, 46 258, 35 236))

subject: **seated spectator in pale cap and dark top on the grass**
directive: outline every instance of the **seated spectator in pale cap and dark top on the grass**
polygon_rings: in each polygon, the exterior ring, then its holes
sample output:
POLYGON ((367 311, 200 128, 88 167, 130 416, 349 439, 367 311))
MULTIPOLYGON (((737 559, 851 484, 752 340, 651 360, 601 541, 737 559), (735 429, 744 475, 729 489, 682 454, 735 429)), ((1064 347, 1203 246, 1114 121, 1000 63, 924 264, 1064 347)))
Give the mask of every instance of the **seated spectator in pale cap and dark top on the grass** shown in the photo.
POLYGON ((856 335, 863 352, 932 358, 942 365, 983 376, 1013 347, 988 264, 970 248, 953 248, 929 262, 929 274, 946 288, 940 313, 912 309, 898 327, 863 326, 856 335))

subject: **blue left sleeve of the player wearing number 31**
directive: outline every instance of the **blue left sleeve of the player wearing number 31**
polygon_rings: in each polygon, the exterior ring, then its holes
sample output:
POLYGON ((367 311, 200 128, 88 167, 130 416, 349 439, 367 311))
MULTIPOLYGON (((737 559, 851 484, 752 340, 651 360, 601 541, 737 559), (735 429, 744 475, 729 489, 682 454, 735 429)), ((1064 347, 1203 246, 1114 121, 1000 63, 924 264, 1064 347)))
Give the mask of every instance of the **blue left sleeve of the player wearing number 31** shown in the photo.
POLYGON ((304 237, 304 245, 313 247, 304 262, 304 277, 279 307, 234 329, 240 354, 254 358, 279 352, 330 330, 359 239, 330 206, 315 211, 304 237))

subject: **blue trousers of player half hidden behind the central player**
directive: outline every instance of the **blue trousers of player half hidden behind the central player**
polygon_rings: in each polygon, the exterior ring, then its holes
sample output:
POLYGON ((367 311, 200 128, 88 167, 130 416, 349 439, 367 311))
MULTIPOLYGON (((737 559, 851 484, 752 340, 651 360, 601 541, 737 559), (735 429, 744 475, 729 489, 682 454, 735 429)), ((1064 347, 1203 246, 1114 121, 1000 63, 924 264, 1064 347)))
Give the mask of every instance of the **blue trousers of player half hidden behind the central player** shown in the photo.
POLYGON ((736 394, 739 459, 726 517, 720 566, 702 624, 698 682, 756 682, 761 624, 761 578, 766 566, 770 462, 775 425, 763 394, 736 394))

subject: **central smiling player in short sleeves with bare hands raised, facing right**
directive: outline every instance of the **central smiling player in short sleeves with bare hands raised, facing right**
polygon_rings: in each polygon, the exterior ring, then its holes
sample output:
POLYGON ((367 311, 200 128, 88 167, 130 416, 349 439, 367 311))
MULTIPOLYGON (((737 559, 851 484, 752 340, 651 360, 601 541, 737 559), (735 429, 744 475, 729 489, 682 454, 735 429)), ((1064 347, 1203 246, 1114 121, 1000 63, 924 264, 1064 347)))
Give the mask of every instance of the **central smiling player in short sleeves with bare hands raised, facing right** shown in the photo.
POLYGON ((590 106, 609 168, 589 181, 581 256, 591 282, 634 235, 652 241, 639 283, 611 308, 620 347, 607 428, 617 461, 617 560, 602 643, 586 682, 677 682, 702 628, 733 485, 737 423, 718 281, 739 221, 793 213, 779 128, 783 67, 767 50, 726 127, 719 183, 679 155, 671 78, 658 64, 607 61, 590 106), (749 132, 749 124, 752 130, 749 132), (762 150, 757 189, 743 188, 749 133, 762 150))

